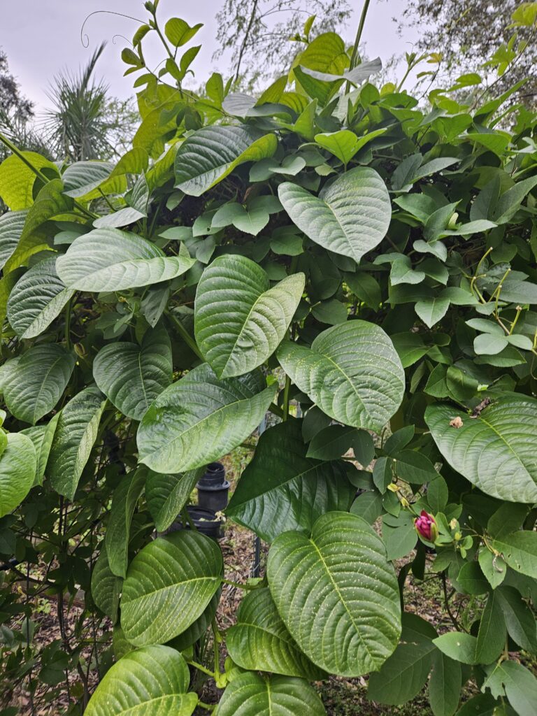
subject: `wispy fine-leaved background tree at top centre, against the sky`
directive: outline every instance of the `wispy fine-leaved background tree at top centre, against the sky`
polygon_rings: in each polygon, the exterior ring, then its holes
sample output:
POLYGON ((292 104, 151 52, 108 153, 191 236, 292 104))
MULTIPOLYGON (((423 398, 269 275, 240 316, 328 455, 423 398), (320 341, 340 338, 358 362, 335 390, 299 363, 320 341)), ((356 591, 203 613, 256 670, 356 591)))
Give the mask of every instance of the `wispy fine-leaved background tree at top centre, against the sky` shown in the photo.
POLYGON ((225 0, 216 15, 219 48, 213 59, 230 51, 236 83, 252 89, 273 77, 276 67, 291 64, 301 48, 289 40, 300 41, 304 23, 313 14, 314 34, 337 32, 351 16, 351 8, 347 0, 311 0, 306 9, 293 0, 225 0))

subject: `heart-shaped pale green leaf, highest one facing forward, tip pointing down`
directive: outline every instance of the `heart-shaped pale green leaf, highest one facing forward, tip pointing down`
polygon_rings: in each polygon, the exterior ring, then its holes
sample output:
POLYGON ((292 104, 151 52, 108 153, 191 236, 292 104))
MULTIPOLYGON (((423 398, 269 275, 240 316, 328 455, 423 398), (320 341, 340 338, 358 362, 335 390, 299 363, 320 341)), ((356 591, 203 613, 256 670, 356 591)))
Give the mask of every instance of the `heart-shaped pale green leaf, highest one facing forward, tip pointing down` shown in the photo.
POLYGON ((386 236, 392 217, 386 185, 369 167, 345 172, 325 185, 319 196, 291 182, 280 184, 278 195, 311 241, 357 263, 386 236))

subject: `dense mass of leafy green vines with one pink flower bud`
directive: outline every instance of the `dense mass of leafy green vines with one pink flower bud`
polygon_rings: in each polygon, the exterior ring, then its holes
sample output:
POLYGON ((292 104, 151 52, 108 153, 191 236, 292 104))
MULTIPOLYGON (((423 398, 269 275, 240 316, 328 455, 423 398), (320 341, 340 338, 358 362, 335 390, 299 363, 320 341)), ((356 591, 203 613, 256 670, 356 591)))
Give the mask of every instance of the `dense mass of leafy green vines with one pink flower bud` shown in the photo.
POLYGON ((146 6, 123 52, 132 149, 66 166, 11 146, 0 165, 4 674, 34 689, 75 669, 84 707, 84 619, 106 615, 87 713, 192 714, 223 558, 164 533, 246 441, 228 519, 269 553, 223 672, 216 654, 219 714, 321 714, 309 681, 371 674, 382 704, 428 684, 435 716, 532 716, 537 152, 520 86, 494 98, 466 75, 420 101, 326 33, 261 97, 220 74, 194 95, 198 26, 160 31, 146 6), (407 609, 409 579, 440 586, 445 620, 425 588, 422 616, 407 609), (40 650, 44 590, 84 608, 40 650))

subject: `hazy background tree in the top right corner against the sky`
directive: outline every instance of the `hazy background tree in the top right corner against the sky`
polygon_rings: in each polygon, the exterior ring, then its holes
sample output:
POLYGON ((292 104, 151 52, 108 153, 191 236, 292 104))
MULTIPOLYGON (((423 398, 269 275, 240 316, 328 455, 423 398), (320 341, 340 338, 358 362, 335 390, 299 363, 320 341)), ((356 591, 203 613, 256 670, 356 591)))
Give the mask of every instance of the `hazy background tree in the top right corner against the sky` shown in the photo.
POLYGON ((514 32, 511 16, 516 11, 534 13, 532 5, 535 6, 518 0, 409 0, 402 19, 394 20, 399 24, 400 34, 411 26, 420 29, 415 49, 442 52, 440 74, 448 82, 465 72, 475 72, 493 54, 497 54, 498 59, 505 55, 507 59, 508 54, 516 52, 519 42, 527 42, 517 61, 498 78, 495 93, 505 91, 520 79, 527 79, 516 101, 534 107, 537 92, 535 22, 533 26, 517 27, 516 42, 508 47, 514 32))

